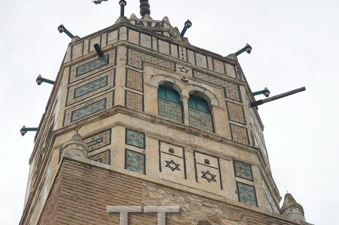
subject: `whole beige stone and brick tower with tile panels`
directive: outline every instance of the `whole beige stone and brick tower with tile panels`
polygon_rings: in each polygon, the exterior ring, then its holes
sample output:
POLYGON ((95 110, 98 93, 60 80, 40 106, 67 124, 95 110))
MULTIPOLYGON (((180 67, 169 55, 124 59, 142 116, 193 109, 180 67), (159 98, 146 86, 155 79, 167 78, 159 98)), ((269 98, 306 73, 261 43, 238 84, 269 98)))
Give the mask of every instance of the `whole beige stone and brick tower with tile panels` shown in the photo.
MULTIPOLYGON (((191 45, 167 17, 132 14, 74 37, 35 137, 20 225, 120 224, 106 206, 175 205, 166 224, 308 224, 292 195, 280 210, 252 101, 235 54, 191 45)), ((157 213, 130 213, 129 224, 157 224, 157 213)))

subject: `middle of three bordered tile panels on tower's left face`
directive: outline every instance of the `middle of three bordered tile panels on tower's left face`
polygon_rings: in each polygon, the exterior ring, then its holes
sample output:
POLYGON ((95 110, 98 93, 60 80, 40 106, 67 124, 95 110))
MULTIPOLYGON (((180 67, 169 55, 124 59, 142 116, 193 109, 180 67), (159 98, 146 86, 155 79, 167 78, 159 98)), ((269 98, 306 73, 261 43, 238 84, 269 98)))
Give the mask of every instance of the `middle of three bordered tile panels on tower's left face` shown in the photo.
POLYGON ((71 105, 92 95, 114 87, 115 69, 102 73, 94 78, 70 86, 67 93, 67 104, 71 105))

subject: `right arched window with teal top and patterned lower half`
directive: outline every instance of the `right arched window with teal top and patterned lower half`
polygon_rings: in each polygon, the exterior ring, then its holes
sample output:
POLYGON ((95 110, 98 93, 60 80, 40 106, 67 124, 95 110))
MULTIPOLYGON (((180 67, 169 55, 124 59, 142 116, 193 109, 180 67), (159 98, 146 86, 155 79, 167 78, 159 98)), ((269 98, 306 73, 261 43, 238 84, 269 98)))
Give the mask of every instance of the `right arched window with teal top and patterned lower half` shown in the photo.
POLYGON ((208 103, 203 98, 190 95, 188 99, 188 113, 190 125, 201 130, 214 132, 212 114, 208 103))

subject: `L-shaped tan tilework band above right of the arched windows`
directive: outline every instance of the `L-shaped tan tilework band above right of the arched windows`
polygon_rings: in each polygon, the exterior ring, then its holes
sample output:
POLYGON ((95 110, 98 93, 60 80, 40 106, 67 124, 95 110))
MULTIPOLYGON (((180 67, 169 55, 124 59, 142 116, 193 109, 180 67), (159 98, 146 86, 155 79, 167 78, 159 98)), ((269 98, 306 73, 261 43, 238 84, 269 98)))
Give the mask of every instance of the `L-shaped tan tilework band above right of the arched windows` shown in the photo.
POLYGON ((235 101, 241 102, 240 90, 237 84, 221 80, 216 77, 212 77, 207 74, 203 74, 197 71, 193 71, 193 77, 211 84, 218 85, 220 87, 224 87, 225 90, 225 97, 230 98, 235 101))

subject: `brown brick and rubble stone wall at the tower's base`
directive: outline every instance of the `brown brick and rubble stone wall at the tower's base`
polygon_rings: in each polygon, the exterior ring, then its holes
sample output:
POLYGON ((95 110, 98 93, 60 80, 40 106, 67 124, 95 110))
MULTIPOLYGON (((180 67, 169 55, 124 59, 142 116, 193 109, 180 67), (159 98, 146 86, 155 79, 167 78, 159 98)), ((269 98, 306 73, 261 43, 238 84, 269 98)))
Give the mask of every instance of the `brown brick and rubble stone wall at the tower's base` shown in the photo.
MULTIPOLYGON (((64 160, 61 166, 38 224, 120 224, 108 205, 180 205, 180 213, 167 213, 168 225, 295 224, 85 163, 64 160)), ((156 213, 129 214, 129 224, 156 221, 156 213)))

